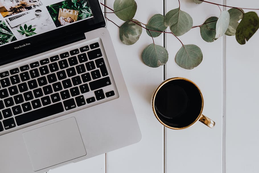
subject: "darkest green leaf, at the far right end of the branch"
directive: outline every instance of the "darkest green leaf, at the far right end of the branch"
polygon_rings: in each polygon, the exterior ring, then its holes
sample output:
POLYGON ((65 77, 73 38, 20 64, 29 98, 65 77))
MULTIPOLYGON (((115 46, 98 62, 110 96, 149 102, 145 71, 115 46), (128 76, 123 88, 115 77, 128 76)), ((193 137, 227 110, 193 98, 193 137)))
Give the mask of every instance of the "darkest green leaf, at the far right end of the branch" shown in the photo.
POLYGON ((243 19, 237 26, 236 40, 239 44, 246 44, 259 28, 259 18, 253 11, 244 13, 243 19))

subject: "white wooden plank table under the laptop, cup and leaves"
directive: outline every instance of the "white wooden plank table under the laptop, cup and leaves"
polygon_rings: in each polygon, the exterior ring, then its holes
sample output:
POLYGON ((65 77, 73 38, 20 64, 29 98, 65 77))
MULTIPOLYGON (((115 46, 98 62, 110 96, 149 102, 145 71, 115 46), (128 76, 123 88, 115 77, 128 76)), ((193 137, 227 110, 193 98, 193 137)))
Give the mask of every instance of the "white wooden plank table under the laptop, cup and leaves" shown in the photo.
MULTIPOLYGON (((235 7, 259 8, 259 1, 253 0, 210 1, 235 7)), ((113 2, 107 0, 106 5, 113 8, 113 2)), ((138 10, 134 19, 142 23, 147 23, 154 14, 164 14, 164 7, 166 12, 178 8, 177 0, 136 2, 138 10)), ((208 17, 219 17, 220 11, 216 5, 196 5, 192 0, 180 2, 181 9, 193 17, 194 26, 201 25, 208 17)), ((114 14, 107 14, 107 17, 118 25, 123 23, 114 14)), ((126 46, 119 39, 118 27, 108 21, 107 28, 137 115, 142 140, 49 173, 258 172, 259 31, 241 46, 235 36, 224 36, 207 43, 202 40, 199 28, 191 29, 179 38, 184 44, 198 45, 203 52, 203 61, 197 68, 185 70, 174 61, 181 44, 172 35, 164 38, 161 34, 155 38, 156 44, 166 46, 169 60, 165 67, 150 68, 141 60, 142 50, 152 43, 145 30, 136 44, 126 46), (200 87, 205 102, 203 114, 216 122, 213 129, 196 123, 190 128, 176 131, 164 128, 157 121, 150 105, 151 94, 164 77, 177 76, 189 78, 200 87)))

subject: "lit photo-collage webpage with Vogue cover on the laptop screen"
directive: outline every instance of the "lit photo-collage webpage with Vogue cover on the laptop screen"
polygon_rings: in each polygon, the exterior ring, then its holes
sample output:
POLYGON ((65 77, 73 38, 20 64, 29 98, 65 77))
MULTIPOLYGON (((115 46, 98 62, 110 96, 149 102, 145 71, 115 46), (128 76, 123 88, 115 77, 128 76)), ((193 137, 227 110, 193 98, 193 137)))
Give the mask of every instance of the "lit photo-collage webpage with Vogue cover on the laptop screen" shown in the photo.
POLYGON ((0 46, 93 17, 88 0, 0 0, 0 46))

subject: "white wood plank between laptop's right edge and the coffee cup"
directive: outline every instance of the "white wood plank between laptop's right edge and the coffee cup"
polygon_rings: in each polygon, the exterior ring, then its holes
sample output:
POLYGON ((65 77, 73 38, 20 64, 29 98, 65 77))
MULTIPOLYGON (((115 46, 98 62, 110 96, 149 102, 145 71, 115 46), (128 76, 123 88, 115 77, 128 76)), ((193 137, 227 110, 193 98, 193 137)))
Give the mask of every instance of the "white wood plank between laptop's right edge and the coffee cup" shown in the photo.
MULTIPOLYGON (((114 0, 107 1, 107 5, 113 8, 114 0)), ((138 9, 134 19, 147 23, 152 15, 163 14, 163 0, 136 2, 138 9)), ((118 25, 123 23, 114 14, 108 14, 108 17, 118 25)), ((141 53, 152 43, 151 37, 144 29, 138 42, 127 46, 119 39, 118 27, 108 21, 107 28, 142 132, 142 140, 139 143, 107 153, 107 172, 163 172, 163 126, 156 120, 150 104, 153 91, 163 81, 163 66, 151 68, 143 64, 141 53)), ((163 35, 156 38, 155 43, 163 46, 163 35)))

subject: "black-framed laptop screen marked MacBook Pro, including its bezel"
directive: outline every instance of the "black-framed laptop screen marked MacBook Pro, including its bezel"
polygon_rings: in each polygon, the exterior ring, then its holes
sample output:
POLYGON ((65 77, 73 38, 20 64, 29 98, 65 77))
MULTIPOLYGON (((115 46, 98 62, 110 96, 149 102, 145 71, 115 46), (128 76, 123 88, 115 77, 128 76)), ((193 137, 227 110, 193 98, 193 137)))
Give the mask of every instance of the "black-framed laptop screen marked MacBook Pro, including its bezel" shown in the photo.
POLYGON ((98 0, 0 0, 0 65, 85 39, 105 26, 98 0))

